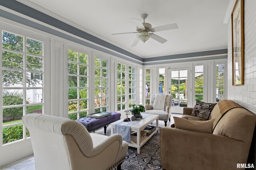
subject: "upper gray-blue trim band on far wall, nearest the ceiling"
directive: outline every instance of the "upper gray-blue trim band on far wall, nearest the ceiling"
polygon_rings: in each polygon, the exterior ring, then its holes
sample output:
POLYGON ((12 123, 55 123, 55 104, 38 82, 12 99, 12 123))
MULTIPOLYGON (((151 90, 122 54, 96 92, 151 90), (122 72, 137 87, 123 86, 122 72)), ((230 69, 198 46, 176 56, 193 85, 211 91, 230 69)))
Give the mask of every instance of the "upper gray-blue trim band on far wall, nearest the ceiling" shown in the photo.
POLYGON ((159 60, 170 60, 170 59, 182 59, 188 57, 200 57, 207 55, 219 55, 219 54, 227 54, 228 49, 220 49, 220 50, 211 50, 211 51, 200 51, 195 53, 184 53, 184 54, 176 54, 176 55, 166 55, 161 57, 150 57, 143 60, 143 62, 147 61, 159 61, 159 60))

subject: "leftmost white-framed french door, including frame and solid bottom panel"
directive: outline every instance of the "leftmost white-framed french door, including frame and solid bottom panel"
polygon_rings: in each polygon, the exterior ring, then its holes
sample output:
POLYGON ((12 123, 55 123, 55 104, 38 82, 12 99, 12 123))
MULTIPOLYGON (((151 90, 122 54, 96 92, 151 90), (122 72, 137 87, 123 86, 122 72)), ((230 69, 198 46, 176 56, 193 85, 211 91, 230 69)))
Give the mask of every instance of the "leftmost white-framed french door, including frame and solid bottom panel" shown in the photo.
POLYGON ((1 167, 33 154, 21 117, 50 114, 50 38, 0 25, 1 167))

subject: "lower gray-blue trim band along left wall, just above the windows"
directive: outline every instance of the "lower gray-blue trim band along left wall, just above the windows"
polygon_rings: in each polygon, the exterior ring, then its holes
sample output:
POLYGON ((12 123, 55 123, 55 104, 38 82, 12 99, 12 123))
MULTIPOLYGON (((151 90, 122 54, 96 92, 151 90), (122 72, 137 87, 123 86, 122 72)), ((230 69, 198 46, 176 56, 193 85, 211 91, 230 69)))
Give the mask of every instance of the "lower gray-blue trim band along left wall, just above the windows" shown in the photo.
POLYGON ((86 46, 86 47, 90 47, 90 48, 92 48, 92 49, 96 49, 96 50, 102 51, 102 52, 104 52, 104 53, 108 53, 108 54, 110 54, 110 55, 114 55, 114 56, 119 57, 119 58, 121 58, 121 59, 125 59, 125 60, 131 61, 131 62, 133 62, 133 63, 141 64, 141 65, 143 64, 143 63, 140 62, 140 61, 133 60, 133 59, 131 59, 131 58, 129 58, 129 57, 125 57, 125 56, 120 55, 120 54, 118 54, 118 53, 114 53, 113 51, 104 49, 104 48, 99 47, 99 46, 97 46, 97 45, 88 43, 88 42, 83 41, 83 40, 81 40, 81 39, 72 37, 72 36, 67 35, 67 34, 65 34, 65 33, 62 33, 62 32, 60 32, 60 31, 56 31, 56 30, 54 30, 54 29, 51 29, 51 28, 49 28, 49 27, 46 27, 46 26, 41 25, 41 24, 39 24, 39 23, 35 23, 35 22, 33 22, 33 21, 30 21, 30 20, 27 20, 27 19, 22 18, 22 17, 20 17, 20 16, 16 16, 16 15, 14 15, 14 14, 11 14, 11 13, 6 12, 6 11, 1 10, 1 9, 0 9, 0 16, 3 17, 3 18, 6 18, 6 19, 8 19, 8 20, 12 20, 12 21, 15 21, 15 22, 18 22, 18 23, 27 25, 27 26, 29 26, 29 27, 38 29, 38 30, 40 30, 40 31, 44 31, 44 32, 50 33, 50 34, 52 34, 52 35, 56 35, 56 36, 61 37, 61 38, 64 38, 64 39, 68 39, 68 40, 73 41, 73 42, 75 42, 75 43, 84 45, 84 46, 86 46))

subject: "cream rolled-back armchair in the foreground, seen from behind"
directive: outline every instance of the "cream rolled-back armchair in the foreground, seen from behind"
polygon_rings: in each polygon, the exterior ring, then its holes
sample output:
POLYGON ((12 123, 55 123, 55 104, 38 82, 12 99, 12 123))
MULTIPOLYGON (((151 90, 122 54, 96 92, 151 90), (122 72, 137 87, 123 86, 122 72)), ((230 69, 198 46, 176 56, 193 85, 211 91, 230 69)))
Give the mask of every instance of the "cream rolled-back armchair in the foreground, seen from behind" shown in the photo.
POLYGON ((36 170, 120 169, 128 150, 121 135, 91 134, 67 118, 32 113, 22 121, 30 133, 36 170))

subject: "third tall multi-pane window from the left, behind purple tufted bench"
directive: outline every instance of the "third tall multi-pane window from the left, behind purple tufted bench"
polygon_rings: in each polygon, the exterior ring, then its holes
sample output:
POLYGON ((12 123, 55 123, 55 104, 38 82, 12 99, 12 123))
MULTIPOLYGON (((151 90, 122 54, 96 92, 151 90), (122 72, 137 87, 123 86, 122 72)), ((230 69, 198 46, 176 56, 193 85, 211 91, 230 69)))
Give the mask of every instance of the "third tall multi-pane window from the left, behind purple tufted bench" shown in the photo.
POLYGON ((94 111, 108 111, 108 60, 94 57, 94 111))

